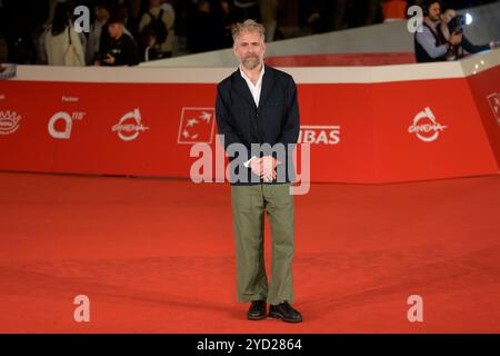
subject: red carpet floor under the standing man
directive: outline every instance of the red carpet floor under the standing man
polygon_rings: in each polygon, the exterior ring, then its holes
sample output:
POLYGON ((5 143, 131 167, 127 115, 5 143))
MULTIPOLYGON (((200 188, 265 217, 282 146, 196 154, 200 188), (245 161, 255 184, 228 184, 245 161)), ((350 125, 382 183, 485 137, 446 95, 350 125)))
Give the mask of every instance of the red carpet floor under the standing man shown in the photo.
POLYGON ((0 185, 0 333, 500 333, 499 176, 296 197, 298 325, 246 320, 234 301, 227 185, 0 185), (80 294, 90 323, 73 320, 80 294), (410 295, 423 323, 407 319, 410 295))

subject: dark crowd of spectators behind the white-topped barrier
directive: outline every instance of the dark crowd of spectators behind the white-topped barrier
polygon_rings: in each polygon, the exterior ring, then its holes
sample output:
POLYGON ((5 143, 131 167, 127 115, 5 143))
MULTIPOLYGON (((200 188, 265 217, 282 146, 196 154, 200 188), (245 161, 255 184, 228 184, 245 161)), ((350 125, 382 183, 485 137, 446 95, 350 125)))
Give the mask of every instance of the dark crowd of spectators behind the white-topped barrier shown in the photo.
MULTIPOLYGON (((133 66, 229 48, 231 27, 256 19, 266 40, 401 20, 406 0, 0 0, 7 61, 53 66, 133 66), (73 9, 90 10, 90 29, 73 9), (283 28, 298 31, 283 31, 283 28)), ((444 1, 446 2, 446 1, 444 1)), ((456 9, 491 2, 448 1, 456 9)), ((1 44, 0 44, 1 46, 1 44)))

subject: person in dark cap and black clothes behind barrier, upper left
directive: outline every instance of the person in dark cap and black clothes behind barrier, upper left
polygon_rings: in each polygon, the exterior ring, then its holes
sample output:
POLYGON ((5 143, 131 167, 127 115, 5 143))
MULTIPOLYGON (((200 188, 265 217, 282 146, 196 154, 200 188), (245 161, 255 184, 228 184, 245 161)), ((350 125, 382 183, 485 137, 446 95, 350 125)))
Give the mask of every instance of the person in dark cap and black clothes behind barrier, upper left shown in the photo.
POLYGON ((139 51, 133 39, 124 33, 124 21, 120 16, 108 20, 108 32, 111 39, 103 43, 96 66, 137 66, 139 51))

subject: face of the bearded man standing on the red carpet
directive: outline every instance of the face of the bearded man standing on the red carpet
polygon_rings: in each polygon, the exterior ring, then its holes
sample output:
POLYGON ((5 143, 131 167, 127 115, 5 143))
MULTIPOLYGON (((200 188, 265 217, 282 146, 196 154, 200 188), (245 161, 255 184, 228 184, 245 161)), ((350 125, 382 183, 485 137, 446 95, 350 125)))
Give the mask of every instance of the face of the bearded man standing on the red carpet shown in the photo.
POLYGON ((266 52, 266 43, 257 31, 247 31, 240 34, 232 47, 240 63, 248 70, 252 70, 262 62, 266 52))

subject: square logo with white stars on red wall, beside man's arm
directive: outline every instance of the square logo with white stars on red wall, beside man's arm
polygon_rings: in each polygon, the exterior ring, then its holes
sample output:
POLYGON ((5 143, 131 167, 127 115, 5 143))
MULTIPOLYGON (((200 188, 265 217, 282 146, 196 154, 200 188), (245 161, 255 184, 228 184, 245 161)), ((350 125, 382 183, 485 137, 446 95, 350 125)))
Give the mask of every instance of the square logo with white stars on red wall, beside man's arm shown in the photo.
POLYGON ((211 144, 214 126, 214 108, 182 108, 177 142, 211 144))

